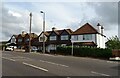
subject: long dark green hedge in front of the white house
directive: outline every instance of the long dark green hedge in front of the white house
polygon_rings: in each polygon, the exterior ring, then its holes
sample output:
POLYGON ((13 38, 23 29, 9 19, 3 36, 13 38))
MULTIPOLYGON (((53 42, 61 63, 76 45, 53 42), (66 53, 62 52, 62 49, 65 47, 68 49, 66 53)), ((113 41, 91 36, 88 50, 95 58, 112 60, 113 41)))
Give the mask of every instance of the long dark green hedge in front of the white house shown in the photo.
MULTIPOLYGON (((72 47, 57 47, 56 54, 71 55, 72 47)), ((111 49, 102 48, 85 48, 85 47, 74 47, 74 56, 81 57, 96 57, 96 58, 109 58, 112 56, 111 49)))

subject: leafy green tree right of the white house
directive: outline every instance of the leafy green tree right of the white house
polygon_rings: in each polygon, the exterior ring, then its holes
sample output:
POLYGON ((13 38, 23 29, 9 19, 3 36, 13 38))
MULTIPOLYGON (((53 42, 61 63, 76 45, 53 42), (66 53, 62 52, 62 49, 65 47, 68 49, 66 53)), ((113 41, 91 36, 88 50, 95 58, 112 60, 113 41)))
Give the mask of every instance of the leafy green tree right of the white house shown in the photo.
POLYGON ((106 47, 110 49, 120 49, 120 39, 115 36, 108 39, 106 47))

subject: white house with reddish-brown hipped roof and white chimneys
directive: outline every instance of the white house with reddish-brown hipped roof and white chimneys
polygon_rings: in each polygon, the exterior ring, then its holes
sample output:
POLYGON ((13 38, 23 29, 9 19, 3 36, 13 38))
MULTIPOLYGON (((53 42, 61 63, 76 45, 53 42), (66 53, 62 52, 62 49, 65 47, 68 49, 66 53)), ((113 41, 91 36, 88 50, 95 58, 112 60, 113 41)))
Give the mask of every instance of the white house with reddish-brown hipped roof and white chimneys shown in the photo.
POLYGON ((74 46, 105 48, 104 28, 99 23, 97 28, 89 23, 84 24, 72 33, 71 42, 74 46))

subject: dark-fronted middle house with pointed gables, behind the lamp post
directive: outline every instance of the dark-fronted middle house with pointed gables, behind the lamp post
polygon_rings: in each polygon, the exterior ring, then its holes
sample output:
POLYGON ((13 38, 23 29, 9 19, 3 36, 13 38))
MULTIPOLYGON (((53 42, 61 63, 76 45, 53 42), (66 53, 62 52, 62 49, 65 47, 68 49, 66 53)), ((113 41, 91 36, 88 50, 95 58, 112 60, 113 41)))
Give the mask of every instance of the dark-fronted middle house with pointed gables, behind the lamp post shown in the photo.
MULTIPOLYGON (((57 46, 71 45, 71 29, 56 30, 52 28, 52 31, 45 32, 45 46, 46 51, 50 52, 56 50, 57 46)), ((43 32, 39 35, 39 48, 42 50, 43 44, 43 32)))

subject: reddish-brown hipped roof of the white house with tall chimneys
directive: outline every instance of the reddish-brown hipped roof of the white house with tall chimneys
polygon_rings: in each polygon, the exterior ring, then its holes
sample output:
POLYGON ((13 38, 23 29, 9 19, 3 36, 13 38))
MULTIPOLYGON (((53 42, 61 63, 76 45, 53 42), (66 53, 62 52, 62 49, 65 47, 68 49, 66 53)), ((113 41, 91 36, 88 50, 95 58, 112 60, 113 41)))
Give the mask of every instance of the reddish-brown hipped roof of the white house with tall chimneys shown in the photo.
POLYGON ((98 31, 89 23, 86 23, 82 27, 74 31, 72 34, 79 35, 79 34, 96 34, 96 33, 98 33, 98 31))

